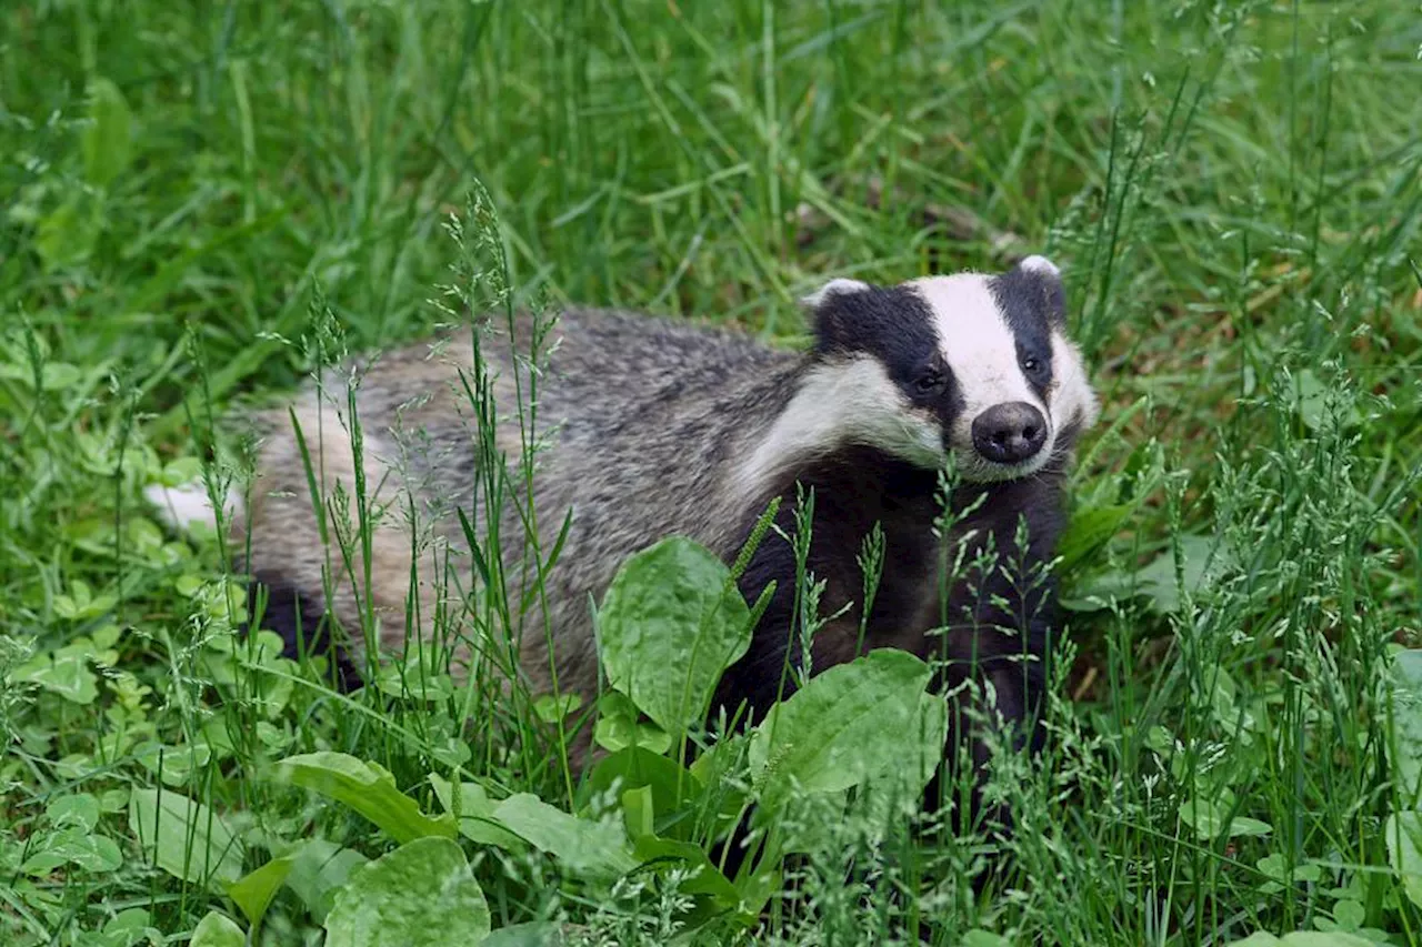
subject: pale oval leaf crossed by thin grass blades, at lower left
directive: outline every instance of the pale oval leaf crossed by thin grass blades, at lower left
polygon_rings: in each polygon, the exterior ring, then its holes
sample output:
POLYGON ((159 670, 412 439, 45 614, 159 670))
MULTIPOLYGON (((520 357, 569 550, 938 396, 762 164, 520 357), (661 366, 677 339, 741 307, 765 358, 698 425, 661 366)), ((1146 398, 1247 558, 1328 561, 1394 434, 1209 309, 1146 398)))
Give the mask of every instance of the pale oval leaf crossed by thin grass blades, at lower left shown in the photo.
POLYGON ((128 825, 149 860, 175 877, 222 893, 242 876, 242 843, 201 802, 172 791, 135 789, 128 825))

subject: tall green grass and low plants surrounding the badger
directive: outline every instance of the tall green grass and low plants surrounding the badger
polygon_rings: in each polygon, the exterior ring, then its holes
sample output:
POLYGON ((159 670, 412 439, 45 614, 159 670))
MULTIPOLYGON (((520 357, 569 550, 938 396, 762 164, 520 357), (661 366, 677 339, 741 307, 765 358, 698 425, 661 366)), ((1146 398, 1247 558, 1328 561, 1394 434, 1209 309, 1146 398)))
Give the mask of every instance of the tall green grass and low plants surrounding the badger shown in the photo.
MULTIPOLYGON (((195 838, 176 869, 144 855, 129 812, 158 786, 220 816, 233 876, 301 839, 394 847, 273 782, 289 754, 377 762, 427 812, 455 769, 567 806, 488 734, 471 755, 449 701, 340 700, 235 648, 216 545, 139 501, 198 469, 225 407, 297 384, 331 324, 356 351, 445 319, 444 223, 478 179, 516 301, 786 341, 828 276, 1047 252, 1106 405, 1054 749, 998 785, 1025 813, 1005 879, 978 894, 973 845, 859 813, 747 930, 688 920, 665 877, 465 840, 495 929, 1422 943, 1398 870, 1418 842, 1388 832, 1416 826, 1422 752, 1392 684, 1422 631, 1419 48, 1416 11, 1381 0, 6 4, 0 940, 240 919, 182 880, 195 838)), ((336 882, 311 857, 260 943, 319 941, 336 882)))

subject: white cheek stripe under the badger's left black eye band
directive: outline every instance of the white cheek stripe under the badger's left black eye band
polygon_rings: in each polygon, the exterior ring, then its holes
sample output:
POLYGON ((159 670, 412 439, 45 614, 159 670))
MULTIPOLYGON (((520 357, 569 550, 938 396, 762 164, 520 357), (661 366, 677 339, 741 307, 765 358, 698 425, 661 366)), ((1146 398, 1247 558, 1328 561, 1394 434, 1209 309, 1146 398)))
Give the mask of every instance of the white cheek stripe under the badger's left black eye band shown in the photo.
POLYGON ((867 355, 816 365, 737 472, 738 489, 757 492, 776 474, 845 444, 877 446, 920 466, 944 461, 937 421, 916 411, 867 355))

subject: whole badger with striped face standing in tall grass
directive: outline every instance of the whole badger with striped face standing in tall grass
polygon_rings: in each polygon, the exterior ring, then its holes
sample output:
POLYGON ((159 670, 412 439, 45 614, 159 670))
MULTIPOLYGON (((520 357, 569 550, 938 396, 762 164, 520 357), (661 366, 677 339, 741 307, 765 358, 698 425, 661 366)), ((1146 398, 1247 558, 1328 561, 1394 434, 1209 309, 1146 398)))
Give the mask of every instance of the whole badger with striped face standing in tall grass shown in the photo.
MULTIPOLYGON (((428 634, 437 613, 458 621, 459 593, 442 579, 472 572, 458 555, 469 553, 466 525, 483 509, 458 510, 479 479, 479 428, 492 428, 510 465, 530 444, 516 421, 471 410, 478 346, 492 402, 508 412, 536 391, 547 434, 530 465, 535 539, 560 552, 542 576, 539 630, 520 636, 518 667, 505 668, 530 691, 556 678, 559 691, 596 698, 590 606, 629 556, 683 535, 731 562, 779 498, 778 529, 739 577, 748 601, 772 582, 775 592, 714 702, 754 719, 784 697, 785 668, 805 660, 788 628, 796 510, 812 493, 805 566, 823 583, 829 616, 808 646, 812 673, 903 648, 940 661, 947 691, 990 694, 994 718, 1021 724, 1018 742, 1035 747, 1052 616, 1049 582, 1028 573, 1054 556, 1074 445, 1098 415, 1066 334, 1061 273, 1031 256, 1004 273, 897 286, 840 277, 803 307, 812 344, 802 351, 687 320, 567 309, 538 364, 526 353, 540 330, 518 317, 503 331, 491 320, 476 336, 392 351, 341 384, 311 385, 266 425, 250 509, 232 501, 228 510, 246 569, 266 589, 266 626, 294 648, 303 627, 334 620, 358 651, 365 640, 398 650, 408 630, 428 634), (321 522, 331 510, 319 515, 311 486, 354 496, 357 481, 380 513, 356 560, 333 565, 321 522), (882 574, 866 617, 862 550, 876 528, 882 574), (947 559, 984 550, 995 565, 941 582, 947 559), (963 688, 970 680, 978 687, 963 688)), ((179 523, 212 519, 201 489, 156 488, 151 499, 179 523)), ((506 540, 529 526, 526 510, 509 506, 506 540)), ((510 600, 525 592, 518 572, 506 569, 510 600)), ((971 756, 981 764, 985 751, 974 745, 971 756)))

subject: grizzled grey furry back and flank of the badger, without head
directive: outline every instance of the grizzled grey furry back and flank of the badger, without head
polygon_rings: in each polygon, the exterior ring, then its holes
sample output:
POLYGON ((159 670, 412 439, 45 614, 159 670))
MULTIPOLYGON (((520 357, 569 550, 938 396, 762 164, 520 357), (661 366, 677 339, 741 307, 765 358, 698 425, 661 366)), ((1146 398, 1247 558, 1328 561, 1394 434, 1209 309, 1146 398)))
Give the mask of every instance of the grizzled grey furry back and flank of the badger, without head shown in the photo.
POLYGON ((498 328, 481 333, 478 343, 492 382, 492 425, 481 421, 471 331, 357 370, 358 438, 346 377, 297 397, 292 414, 292 414, 269 415, 245 537, 250 573, 277 609, 269 607, 266 624, 294 638, 300 620, 310 636, 328 610, 357 638, 378 624, 383 644, 397 650, 407 631, 438 627, 454 631, 475 658, 495 663, 509 653, 508 643, 481 634, 510 634, 535 688, 549 684, 550 631, 559 688, 590 692, 596 653, 589 601, 617 566, 668 533, 694 536, 721 553, 737 542, 745 498, 727 479, 729 461, 774 418, 793 384, 796 355, 732 333, 570 310, 542 340, 535 373, 533 323, 520 319, 512 337, 498 328), (512 616, 513 627, 495 630, 476 627, 464 613, 474 562, 456 510, 482 542, 491 509, 485 488, 499 482, 479 469, 481 437, 493 438, 509 472, 499 545, 515 611, 528 576, 520 562, 528 536, 520 455, 528 444, 535 445, 532 508, 543 556, 572 510, 545 594, 522 619, 512 616), (324 535, 306 456, 324 502, 324 535), (357 481, 373 512, 368 569, 357 481))

